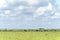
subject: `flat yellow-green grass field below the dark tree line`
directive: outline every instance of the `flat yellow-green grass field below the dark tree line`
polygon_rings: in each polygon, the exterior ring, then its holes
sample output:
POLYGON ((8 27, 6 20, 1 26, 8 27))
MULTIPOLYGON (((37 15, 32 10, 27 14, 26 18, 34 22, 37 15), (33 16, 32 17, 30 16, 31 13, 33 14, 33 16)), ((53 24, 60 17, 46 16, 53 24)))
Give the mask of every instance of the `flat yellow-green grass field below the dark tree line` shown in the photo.
POLYGON ((0 40, 60 40, 60 32, 0 32, 0 40))

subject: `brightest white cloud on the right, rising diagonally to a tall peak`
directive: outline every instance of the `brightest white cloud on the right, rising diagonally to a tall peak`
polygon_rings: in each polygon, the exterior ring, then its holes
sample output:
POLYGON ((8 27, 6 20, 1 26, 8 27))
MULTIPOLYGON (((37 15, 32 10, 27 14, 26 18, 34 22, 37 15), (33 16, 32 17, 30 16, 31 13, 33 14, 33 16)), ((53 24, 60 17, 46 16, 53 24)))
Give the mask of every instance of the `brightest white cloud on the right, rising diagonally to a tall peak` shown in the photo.
POLYGON ((45 13, 45 11, 49 10, 51 11, 53 8, 52 4, 49 3, 48 6, 44 6, 44 7, 39 7, 37 8, 37 10, 34 13, 34 16, 41 16, 45 13))

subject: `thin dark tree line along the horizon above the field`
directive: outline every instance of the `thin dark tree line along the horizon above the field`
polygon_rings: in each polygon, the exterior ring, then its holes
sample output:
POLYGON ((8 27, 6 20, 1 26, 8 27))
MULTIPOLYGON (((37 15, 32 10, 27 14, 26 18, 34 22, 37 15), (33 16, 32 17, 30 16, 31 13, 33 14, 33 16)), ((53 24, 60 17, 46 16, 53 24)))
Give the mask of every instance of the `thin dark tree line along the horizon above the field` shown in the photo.
POLYGON ((39 29, 10 29, 10 30, 4 29, 4 30, 0 30, 0 31, 48 32, 48 31, 60 31, 60 29, 44 29, 44 28, 39 28, 39 29))

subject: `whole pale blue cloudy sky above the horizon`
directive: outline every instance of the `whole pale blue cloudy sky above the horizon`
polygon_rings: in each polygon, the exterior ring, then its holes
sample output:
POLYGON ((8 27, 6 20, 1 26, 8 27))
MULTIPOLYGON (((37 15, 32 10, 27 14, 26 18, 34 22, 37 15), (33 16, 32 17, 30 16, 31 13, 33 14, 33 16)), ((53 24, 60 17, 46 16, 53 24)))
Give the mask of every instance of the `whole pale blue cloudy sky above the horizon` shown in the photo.
POLYGON ((60 28, 60 0, 0 0, 0 29, 38 28, 60 28))

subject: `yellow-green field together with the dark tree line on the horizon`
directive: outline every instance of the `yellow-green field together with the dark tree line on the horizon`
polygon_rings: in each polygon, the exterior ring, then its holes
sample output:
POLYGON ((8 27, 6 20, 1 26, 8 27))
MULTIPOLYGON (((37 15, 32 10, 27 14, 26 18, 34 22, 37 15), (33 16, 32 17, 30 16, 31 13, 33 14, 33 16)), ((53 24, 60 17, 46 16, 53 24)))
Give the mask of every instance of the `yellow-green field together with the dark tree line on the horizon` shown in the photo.
POLYGON ((60 30, 0 30, 0 40, 60 40, 60 30))

